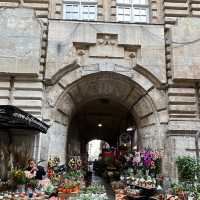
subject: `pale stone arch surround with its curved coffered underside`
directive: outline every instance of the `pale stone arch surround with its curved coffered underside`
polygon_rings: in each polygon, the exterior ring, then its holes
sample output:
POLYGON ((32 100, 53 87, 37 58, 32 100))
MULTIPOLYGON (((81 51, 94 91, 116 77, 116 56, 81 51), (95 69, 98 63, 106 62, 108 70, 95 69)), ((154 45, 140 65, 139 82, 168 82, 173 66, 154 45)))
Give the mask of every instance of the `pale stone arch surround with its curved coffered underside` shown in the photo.
POLYGON ((65 160, 67 131, 73 114, 88 101, 105 97, 122 104, 135 117, 143 147, 164 148, 165 93, 134 70, 127 73, 116 68, 104 70, 94 72, 79 67, 48 86, 47 114, 51 128, 45 140, 48 146, 42 145, 48 155, 59 154, 65 160))

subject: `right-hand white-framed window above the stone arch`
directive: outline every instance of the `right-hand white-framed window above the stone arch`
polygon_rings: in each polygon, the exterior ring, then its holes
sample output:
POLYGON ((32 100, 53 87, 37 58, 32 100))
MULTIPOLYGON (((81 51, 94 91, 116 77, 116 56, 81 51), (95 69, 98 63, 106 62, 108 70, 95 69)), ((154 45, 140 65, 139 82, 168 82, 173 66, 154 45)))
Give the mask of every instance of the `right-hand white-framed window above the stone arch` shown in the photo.
POLYGON ((148 0, 117 0, 117 21, 148 23, 148 0))

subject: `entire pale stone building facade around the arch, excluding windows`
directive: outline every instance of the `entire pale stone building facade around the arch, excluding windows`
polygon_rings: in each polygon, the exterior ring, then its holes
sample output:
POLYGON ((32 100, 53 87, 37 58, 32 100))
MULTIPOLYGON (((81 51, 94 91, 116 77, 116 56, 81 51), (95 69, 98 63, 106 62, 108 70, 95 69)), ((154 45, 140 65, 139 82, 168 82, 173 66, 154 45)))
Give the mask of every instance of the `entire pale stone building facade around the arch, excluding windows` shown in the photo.
MULTIPOLYGON (((64 162, 73 114, 114 99, 176 177, 176 156, 195 156, 200 128, 199 3, 151 0, 150 23, 131 24, 115 23, 115 0, 98 0, 97 22, 62 20, 62 0, 0 0, 0 104, 49 123, 35 154, 64 162)), ((77 136, 70 145, 81 149, 77 136)))

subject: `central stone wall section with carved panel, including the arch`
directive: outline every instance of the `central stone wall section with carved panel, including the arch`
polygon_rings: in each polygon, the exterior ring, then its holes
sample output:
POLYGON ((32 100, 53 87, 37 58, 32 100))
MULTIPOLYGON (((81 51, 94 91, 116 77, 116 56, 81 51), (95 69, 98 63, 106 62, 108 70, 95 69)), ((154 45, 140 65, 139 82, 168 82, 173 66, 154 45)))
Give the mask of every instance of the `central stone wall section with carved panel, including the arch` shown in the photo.
MULTIPOLYGON (((163 151, 168 120, 164 27, 50 20, 48 36, 48 144, 64 141, 71 116, 81 105, 107 97, 133 113, 141 147, 163 151), (57 126, 63 128, 59 134, 57 126)), ((64 161, 66 149, 56 151, 64 161)))

